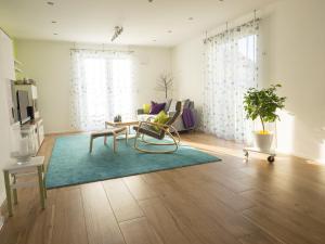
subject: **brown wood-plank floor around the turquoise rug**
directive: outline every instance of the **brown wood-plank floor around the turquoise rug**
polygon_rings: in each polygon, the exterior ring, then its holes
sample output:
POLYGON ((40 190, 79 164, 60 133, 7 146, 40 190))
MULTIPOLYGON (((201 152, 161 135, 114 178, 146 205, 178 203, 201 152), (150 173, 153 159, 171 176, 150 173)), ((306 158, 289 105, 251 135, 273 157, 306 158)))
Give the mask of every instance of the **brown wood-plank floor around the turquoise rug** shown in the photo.
MULTIPOLYGON (((223 160, 48 191, 18 192, 6 244, 325 243, 325 167, 280 156, 243 162, 238 145, 200 133, 183 142, 223 160)), ((40 151, 51 155, 54 137, 40 151)))

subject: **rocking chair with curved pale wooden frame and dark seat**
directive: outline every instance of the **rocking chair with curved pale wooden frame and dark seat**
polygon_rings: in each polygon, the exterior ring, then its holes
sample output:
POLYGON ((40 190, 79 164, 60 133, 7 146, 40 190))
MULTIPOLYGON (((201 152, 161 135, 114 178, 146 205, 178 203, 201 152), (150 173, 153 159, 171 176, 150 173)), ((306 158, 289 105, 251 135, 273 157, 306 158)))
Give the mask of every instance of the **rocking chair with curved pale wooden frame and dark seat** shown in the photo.
POLYGON ((172 124, 177 120, 177 118, 181 115, 182 110, 182 103, 179 101, 176 105, 176 113, 166 123, 166 124, 158 124, 153 121, 141 121, 139 126, 133 127, 133 129, 136 131, 136 136, 134 139, 134 149, 143 152, 143 153, 153 153, 153 154, 164 154, 164 153, 173 153, 179 149, 179 143, 181 142, 181 138, 177 129, 172 126, 172 124), (173 136, 172 132, 176 134, 173 136), (157 140, 164 140, 165 138, 170 138, 171 142, 162 141, 159 142, 150 142, 144 139, 144 136, 157 139, 157 140), (147 145, 173 145, 170 150, 144 150, 139 146, 139 143, 142 142, 147 145))

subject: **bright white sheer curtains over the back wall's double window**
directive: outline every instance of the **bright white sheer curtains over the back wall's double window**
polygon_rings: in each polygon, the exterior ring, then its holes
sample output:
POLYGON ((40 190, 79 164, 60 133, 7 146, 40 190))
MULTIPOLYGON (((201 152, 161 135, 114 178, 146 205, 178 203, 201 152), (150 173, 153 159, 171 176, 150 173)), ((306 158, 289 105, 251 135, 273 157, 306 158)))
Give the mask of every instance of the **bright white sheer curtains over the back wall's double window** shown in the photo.
POLYGON ((112 51, 72 50, 72 126, 78 130, 104 128, 105 120, 121 115, 131 119, 132 59, 112 51))

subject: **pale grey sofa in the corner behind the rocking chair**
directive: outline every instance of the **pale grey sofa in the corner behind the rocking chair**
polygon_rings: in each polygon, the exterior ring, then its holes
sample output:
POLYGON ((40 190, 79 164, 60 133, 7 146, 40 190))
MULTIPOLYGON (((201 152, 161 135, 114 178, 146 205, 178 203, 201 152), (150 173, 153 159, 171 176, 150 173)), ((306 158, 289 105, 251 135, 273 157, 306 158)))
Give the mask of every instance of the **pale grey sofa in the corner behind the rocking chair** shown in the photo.
MULTIPOLYGON (((176 103, 177 103, 177 100, 166 100, 164 102, 166 103, 166 106, 165 106, 164 111, 166 112, 166 114, 169 117, 172 117, 173 114, 176 113, 176 103)), ((191 100, 188 100, 188 99, 183 100, 182 101, 182 111, 184 108, 191 110, 195 123, 194 123, 193 127, 186 128, 184 126, 183 116, 181 114, 181 116, 179 116, 178 119, 172 125, 176 128, 176 130, 179 131, 179 132, 193 130, 197 126, 197 111, 194 107, 194 102, 191 101, 191 100)), ((155 119, 156 116, 157 115, 155 115, 155 114, 144 113, 143 108, 139 108, 136 111, 136 117, 138 117, 139 121, 146 121, 148 119, 155 119)))

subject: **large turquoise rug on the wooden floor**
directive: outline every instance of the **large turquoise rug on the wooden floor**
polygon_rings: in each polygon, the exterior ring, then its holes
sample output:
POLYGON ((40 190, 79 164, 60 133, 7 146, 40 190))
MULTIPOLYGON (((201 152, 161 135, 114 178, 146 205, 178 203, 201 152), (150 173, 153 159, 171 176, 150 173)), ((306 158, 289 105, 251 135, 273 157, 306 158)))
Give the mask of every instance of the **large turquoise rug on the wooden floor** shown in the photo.
MULTIPOLYGON (((129 140, 128 145, 125 140, 118 140, 117 153, 113 153, 112 138, 108 138, 107 145, 103 144, 103 138, 99 138, 94 140, 92 154, 89 154, 89 136, 57 138, 47 172, 47 188, 60 188, 220 160, 216 156, 186 145, 181 145, 173 154, 144 154, 133 149, 133 140, 129 140)), ((152 149, 152 145, 144 145, 144 147, 152 149)))

